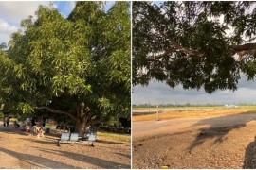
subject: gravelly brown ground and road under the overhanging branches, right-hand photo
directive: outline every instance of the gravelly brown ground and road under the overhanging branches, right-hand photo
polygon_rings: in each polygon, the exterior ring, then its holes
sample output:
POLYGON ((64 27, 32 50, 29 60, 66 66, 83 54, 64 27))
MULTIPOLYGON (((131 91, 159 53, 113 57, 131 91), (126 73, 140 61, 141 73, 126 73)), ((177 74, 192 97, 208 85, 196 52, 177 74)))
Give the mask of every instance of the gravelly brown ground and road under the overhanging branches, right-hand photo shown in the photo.
POLYGON ((255 135, 256 111, 133 122, 133 168, 255 169, 255 135))

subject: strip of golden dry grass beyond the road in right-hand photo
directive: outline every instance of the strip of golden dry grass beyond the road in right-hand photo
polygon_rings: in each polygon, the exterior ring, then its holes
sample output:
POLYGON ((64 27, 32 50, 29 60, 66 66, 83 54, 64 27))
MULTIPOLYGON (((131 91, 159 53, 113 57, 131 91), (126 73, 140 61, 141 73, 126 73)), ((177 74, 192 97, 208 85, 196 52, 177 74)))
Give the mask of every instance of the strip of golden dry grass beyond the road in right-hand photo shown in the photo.
MULTIPOLYGON (((224 109, 224 110, 188 110, 188 111, 168 111, 159 113, 159 120, 170 120, 175 118, 198 118, 218 115, 248 113, 248 109, 224 109)), ((155 114, 133 115, 133 122, 151 121, 156 119, 155 114)))

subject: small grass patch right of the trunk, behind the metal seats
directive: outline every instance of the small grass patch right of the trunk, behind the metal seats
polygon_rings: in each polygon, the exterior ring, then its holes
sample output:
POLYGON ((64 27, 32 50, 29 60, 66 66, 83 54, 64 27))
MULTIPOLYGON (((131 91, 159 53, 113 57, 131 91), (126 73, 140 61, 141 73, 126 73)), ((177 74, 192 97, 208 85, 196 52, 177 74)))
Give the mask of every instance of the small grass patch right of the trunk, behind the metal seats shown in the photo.
POLYGON ((118 134, 118 133, 99 131, 97 132, 97 135, 99 136, 99 138, 104 138, 107 140, 114 140, 114 141, 125 142, 125 143, 131 142, 130 134, 118 134))

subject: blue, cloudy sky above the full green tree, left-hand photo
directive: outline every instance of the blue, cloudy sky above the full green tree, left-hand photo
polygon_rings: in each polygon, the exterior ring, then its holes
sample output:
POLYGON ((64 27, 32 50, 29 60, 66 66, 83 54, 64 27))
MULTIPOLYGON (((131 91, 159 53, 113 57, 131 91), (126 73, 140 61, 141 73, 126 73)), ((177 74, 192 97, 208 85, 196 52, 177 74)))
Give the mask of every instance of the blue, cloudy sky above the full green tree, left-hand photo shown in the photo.
MULTIPOLYGON (((67 17, 75 7, 74 1, 0 1, 0 43, 9 42, 11 33, 20 29, 20 22, 29 15, 34 16, 39 5, 50 3, 67 17)), ((107 2, 105 10, 114 5, 115 1, 107 2)))

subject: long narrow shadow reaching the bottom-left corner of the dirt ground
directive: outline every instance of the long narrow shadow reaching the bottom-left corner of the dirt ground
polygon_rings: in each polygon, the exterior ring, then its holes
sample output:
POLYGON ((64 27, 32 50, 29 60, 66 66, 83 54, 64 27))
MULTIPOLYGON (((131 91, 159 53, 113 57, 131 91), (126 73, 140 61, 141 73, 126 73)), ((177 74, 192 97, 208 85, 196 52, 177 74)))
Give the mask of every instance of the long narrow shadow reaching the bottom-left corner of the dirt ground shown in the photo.
MULTIPOLYGON (((0 148, 0 152, 6 153, 11 157, 17 158, 22 161, 32 161, 34 163, 37 163, 39 165, 43 165, 46 168, 55 168, 55 169, 78 169, 79 167, 75 167, 69 164, 65 164, 63 162, 58 161, 52 161, 50 159, 42 158, 39 156, 24 154, 24 153, 18 153, 14 152, 5 148, 0 148)), ((8 168, 8 167, 7 167, 8 168)))

